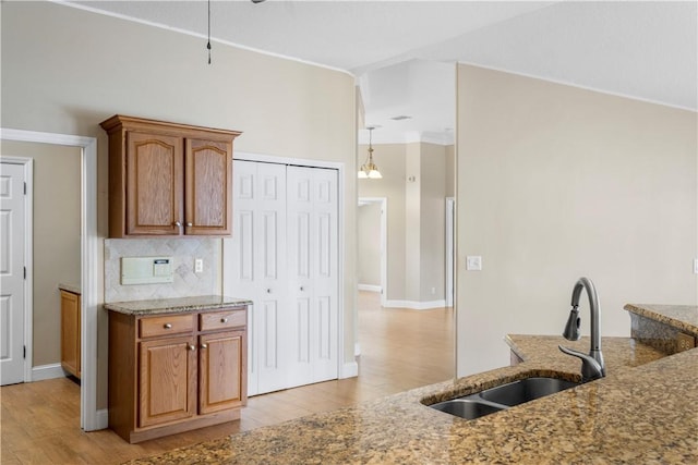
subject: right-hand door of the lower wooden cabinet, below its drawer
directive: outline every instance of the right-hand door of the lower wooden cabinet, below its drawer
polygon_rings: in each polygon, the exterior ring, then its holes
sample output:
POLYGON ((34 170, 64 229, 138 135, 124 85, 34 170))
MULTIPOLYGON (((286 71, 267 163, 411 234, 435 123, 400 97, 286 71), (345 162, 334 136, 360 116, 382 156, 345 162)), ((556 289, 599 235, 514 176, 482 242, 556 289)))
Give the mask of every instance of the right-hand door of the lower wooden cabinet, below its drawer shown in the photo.
POLYGON ((246 403, 244 331, 200 336, 198 413, 233 408, 246 403))

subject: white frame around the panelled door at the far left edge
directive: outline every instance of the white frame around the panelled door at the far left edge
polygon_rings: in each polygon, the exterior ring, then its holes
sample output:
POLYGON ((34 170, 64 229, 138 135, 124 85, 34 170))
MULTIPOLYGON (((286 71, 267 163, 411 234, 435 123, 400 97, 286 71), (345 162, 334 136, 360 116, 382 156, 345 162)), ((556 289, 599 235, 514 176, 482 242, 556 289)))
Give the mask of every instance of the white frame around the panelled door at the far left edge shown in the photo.
MULTIPOLYGON (((26 157, 0 157, 2 163, 21 164, 24 167, 24 182, 26 193, 24 195, 24 231, 27 237, 34 236, 34 159, 26 157)), ((24 321, 24 362, 22 368, 22 381, 32 380, 32 359, 34 350, 34 242, 24 241, 24 306, 22 308, 22 320, 24 321)))

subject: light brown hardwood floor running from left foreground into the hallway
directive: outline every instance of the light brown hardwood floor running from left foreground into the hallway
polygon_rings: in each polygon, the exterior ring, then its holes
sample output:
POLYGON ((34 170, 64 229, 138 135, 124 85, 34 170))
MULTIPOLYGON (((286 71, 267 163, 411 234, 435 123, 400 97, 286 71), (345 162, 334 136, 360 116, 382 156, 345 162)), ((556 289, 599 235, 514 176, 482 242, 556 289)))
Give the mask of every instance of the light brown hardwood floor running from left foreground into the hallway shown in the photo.
POLYGON ((453 309, 381 308, 359 293, 359 377, 250 397, 240 421, 129 444, 80 429, 80 388, 68 378, 0 389, 0 463, 118 464, 316 412, 443 381, 454 374, 453 309))

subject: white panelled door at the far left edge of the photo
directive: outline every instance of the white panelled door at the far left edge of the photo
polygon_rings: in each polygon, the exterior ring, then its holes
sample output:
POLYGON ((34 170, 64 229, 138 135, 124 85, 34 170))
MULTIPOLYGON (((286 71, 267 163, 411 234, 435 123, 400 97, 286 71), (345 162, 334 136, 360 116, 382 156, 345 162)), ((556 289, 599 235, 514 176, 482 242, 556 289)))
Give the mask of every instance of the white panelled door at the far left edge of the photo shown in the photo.
POLYGON ((24 381, 24 286, 26 221, 24 166, 1 163, 0 172, 0 378, 24 381))

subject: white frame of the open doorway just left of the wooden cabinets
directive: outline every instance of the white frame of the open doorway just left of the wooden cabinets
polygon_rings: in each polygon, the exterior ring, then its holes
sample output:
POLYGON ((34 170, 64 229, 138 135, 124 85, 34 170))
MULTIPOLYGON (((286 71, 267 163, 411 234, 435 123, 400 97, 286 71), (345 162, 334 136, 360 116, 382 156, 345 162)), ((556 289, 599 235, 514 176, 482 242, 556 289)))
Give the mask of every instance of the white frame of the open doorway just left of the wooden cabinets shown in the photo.
MULTIPOLYGON (((0 129, 0 139, 64 145, 81 148, 80 242, 82 266, 80 281, 82 292, 82 378, 80 390, 80 426, 85 431, 104 429, 108 424, 107 413, 106 411, 100 413, 97 412, 97 313, 99 308, 97 276, 101 274, 98 272, 99 238, 97 236, 97 138, 2 127, 0 129)), ((31 377, 29 372, 29 379, 27 381, 31 381, 31 377)))

